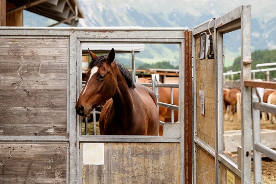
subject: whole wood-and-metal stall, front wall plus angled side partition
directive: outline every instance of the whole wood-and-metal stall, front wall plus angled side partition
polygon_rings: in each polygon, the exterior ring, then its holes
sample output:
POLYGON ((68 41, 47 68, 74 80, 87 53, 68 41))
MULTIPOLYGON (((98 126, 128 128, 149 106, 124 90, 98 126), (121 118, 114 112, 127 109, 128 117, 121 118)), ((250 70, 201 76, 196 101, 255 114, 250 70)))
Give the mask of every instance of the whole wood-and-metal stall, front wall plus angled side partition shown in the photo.
POLYGON ((250 102, 255 83, 248 74, 250 15, 250 6, 243 5, 193 31, 1 27, 0 181, 251 183, 250 102), (222 125, 223 34, 237 29, 242 34, 243 71, 238 162, 223 152, 222 125), (205 31, 214 37, 214 59, 199 59, 200 34, 205 31), (164 136, 82 135, 75 104, 82 86, 83 43, 177 44, 178 123, 166 124, 164 136))

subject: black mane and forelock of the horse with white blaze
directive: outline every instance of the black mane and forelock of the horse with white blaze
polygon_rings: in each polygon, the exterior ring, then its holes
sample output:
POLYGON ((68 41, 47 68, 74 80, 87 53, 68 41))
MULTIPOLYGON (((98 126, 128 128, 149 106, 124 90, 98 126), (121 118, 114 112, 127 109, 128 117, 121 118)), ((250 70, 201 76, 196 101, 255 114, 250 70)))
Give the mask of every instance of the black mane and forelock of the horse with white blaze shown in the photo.
MULTIPOLYGON (((101 55, 101 56, 98 56, 96 59, 92 60, 88 64, 88 70, 91 70, 91 68, 93 68, 94 66, 97 66, 98 64, 99 64, 99 67, 101 67, 103 65, 103 62, 105 62, 107 60, 107 57, 108 57, 107 55, 101 55)), ((116 64, 116 66, 118 66, 122 75, 125 77, 128 87, 135 88, 135 84, 133 82, 132 76, 131 76, 130 72, 127 70, 127 68, 125 68, 122 65, 122 63, 120 63, 116 60, 114 60, 113 62, 114 62, 114 64, 116 64)))

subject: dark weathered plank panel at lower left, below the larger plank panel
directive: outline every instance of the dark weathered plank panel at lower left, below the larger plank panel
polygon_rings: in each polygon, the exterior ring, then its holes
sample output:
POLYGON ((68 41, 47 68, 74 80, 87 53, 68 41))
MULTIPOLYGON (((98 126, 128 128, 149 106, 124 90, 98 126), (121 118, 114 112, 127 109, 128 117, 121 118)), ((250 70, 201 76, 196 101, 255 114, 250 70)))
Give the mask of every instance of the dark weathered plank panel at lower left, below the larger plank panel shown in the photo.
POLYGON ((67 144, 0 144, 0 183, 66 183, 67 144))

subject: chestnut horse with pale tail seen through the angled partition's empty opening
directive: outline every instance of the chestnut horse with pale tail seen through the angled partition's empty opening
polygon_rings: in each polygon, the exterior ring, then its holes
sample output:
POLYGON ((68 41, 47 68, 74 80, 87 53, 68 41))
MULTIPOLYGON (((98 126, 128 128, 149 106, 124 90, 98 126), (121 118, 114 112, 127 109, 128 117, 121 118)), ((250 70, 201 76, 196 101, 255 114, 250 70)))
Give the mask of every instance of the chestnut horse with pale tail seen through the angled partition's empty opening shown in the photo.
POLYGON ((228 119, 227 106, 231 106, 232 116, 230 121, 233 121, 233 116, 237 111, 237 121, 241 121, 241 91, 239 89, 223 89, 223 111, 224 120, 228 119), (236 108, 235 108, 236 107, 236 108))

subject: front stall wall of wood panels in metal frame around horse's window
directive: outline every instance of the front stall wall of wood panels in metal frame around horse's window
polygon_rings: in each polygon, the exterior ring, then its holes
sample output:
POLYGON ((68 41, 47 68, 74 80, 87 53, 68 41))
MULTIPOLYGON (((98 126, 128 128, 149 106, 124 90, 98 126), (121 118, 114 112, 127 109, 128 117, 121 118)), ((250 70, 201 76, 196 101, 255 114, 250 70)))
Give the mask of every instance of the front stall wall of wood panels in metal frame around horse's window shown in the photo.
POLYGON ((187 28, 2 27, 0 42, 5 183, 192 181, 192 32, 187 28), (82 43, 88 42, 177 44, 179 122, 164 124, 164 136, 82 135, 75 103, 82 43), (85 157, 93 151, 97 164, 85 157))

